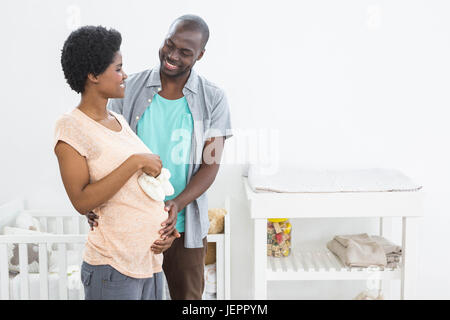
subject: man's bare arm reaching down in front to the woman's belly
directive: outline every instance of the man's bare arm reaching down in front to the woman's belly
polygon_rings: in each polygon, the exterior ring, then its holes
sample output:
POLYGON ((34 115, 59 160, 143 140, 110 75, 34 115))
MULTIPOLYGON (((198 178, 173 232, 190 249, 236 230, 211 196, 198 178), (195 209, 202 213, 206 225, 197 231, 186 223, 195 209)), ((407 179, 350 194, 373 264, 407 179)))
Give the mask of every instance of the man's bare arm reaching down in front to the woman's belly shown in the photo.
POLYGON ((166 210, 169 211, 169 219, 166 221, 166 226, 160 231, 163 239, 172 232, 174 227, 173 221, 178 212, 205 193, 213 184, 217 172, 219 172, 224 145, 224 137, 213 137, 207 140, 203 148, 203 161, 197 173, 176 198, 166 201, 166 210))

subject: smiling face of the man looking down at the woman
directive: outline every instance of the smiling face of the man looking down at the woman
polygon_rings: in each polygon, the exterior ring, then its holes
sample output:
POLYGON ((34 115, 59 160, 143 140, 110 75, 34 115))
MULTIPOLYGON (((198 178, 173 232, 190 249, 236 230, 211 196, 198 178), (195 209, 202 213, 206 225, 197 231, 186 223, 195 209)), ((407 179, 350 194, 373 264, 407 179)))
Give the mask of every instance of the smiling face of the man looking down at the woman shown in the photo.
POLYGON ((169 77, 179 77, 189 73, 195 62, 203 56, 202 49, 200 32, 186 31, 180 24, 174 25, 159 49, 161 72, 169 77))

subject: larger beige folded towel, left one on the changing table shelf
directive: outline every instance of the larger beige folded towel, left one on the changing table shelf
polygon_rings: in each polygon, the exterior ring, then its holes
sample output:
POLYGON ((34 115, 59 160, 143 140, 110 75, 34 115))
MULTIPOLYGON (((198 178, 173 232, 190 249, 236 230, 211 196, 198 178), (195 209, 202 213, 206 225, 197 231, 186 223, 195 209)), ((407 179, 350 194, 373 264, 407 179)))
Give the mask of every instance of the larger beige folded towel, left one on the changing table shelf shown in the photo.
POLYGON ((383 248, 369 235, 336 236, 327 243, 327 248, 349 267, 386 266, 383 248))

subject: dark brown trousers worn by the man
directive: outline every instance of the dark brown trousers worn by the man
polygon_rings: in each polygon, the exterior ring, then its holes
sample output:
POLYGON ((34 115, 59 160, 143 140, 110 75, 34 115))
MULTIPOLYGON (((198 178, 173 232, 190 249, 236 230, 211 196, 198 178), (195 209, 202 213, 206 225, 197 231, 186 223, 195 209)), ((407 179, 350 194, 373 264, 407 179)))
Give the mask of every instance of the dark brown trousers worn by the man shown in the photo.
POLYGON ((185 248, 184 232, 164 251, 163 270, 172 300, 201 300, 205 288, 206 237, 203 248, 185 248))

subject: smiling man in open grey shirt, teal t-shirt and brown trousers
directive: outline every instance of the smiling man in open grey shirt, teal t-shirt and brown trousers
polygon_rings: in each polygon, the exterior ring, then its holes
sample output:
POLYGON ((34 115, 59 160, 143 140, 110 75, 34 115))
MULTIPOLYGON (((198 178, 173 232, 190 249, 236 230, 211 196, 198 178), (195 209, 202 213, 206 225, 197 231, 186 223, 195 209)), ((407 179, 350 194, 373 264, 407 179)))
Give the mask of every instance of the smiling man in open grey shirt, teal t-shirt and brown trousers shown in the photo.
MULTIPOLYGON (((169 218, 161 229, 164 240, 152 250, 164 254, 172 299, 202 297, 209 229, 205 192, 219 170, 225 139, 231 137, 223 90, 192 69, 208 38, 202 18, 179 17, 159 49, 160 66, 130 75, 125 98, 109 103, 171 172, 175 194, 165 201, 169 218)), ((91 227, 97 223, 89 221, 91 227)))

